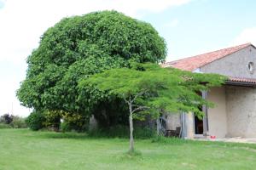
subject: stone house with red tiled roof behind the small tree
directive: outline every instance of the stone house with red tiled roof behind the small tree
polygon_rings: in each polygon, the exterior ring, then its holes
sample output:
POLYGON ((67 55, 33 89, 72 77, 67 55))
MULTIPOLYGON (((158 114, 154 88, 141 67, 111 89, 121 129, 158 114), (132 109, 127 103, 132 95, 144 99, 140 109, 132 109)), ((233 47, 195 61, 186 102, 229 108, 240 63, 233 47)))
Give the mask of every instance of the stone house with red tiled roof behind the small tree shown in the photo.
POLYGON ((183 137, 256 137, 256 48, 251 43, 224 48, 207 54, 167 62, 164 67, 184 71, 218 73, 229 77, 220 88, 202 92, 214 108, 202 107, 203 120, 193 113, 167 117, 167 129, 182 127, 183 137))

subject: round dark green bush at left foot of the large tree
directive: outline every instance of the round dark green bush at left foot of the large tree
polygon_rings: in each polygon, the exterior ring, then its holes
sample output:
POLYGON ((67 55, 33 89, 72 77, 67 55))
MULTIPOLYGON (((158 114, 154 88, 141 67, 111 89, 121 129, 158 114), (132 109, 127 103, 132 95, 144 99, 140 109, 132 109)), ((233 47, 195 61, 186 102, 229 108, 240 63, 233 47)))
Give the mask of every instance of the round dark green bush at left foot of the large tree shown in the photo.
POLYGON ((41 111, 33 111, 27 118, 26 124, 30 129, 37 131, 44 126, 45 116, 41 111))

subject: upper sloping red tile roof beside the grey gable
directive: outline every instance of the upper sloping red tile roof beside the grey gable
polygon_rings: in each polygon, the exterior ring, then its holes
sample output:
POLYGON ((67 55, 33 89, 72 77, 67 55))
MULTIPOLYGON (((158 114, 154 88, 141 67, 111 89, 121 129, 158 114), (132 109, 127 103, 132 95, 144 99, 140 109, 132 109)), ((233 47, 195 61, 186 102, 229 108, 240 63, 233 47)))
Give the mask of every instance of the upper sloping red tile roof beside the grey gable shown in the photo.
POLYGON ((213 51, 207 54, 200 54, 200 55, 195 55, 193 57, 189 57, 185 59, 178 59, 175 61, 166 62, 162 66, 163 67, 172 66, 174 68, 181 69, 183 71, 195 71, 196 69, 200 68, 203 65, 207 65, 209 63, 212 63, 212 61, 215 61, 217 59, 224 58, 227 55, 236 53, 242 48, 247 48, 248 46, 253 46, 253 45, 251 43, 245 43, 245 44, 241 44, 231 48, 219 49, 217 51, 213 51))

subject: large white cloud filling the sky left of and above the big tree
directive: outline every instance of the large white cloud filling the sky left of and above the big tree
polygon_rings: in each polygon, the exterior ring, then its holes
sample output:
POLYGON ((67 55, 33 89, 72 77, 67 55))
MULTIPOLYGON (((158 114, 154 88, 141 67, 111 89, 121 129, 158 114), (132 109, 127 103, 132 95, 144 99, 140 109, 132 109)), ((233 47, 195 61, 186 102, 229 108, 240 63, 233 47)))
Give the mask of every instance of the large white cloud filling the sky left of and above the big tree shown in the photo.
MULTIPOLYGON (((26 75, 26 57, 38 47, 39 37, 49 26, 63 17, 87 14, 96 10, 114 9, 132 17, 143 13, 158 13, 191 0, 0 0, 0 67, 14 67, 15 71, 0 74, 0 115, 14 111, 26 116, 28 110, 20 106, 15 90, 26 75), (8 65, 6 65, 8 63, 8 65), (6 78, 8 77, 8 78, 6 78), (13 106, 12 106, 13 104, 13 106), (13 108, 13 109, 12 109, 13 108)), ((172 25, 176 25, 174 21, 172 25)), ((1 70, 3 71, 3 69, 1 70)))

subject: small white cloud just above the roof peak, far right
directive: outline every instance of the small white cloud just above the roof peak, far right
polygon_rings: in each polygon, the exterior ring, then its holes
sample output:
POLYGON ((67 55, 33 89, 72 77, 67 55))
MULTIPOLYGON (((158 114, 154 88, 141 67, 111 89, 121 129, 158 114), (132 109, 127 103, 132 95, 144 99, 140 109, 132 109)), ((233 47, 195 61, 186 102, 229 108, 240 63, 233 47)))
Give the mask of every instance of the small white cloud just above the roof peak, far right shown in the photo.
POLYGON ((232 45, 242 44, 251 42, 253 45, 256 45, 256 27, 247 28, 231 42, 232 45))

